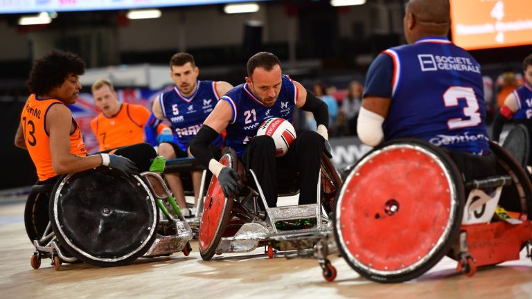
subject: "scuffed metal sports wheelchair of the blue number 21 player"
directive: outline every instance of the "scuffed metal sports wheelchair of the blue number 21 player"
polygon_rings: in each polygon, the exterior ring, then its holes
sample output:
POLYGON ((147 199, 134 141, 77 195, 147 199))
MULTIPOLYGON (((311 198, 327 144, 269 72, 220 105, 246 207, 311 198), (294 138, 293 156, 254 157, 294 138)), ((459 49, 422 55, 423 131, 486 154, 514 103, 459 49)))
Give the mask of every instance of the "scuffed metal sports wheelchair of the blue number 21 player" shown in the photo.
MULTIPOLYGON (((269 258, 274 257, 276 251, 285 252, 287 257, 308 255, 319 258, 315 256, 314 245, 332 230, 328 215, 332 212, 336 192, 342 184, 327 156, 321 158, 317 186, 319 201, 277 208, 268 207, 256 174, 253 170, 245 173, 233 149, 224 149, 220 163, 233 167, 240 174, 245 190, 238 197, 227 198, 216 177, 211 179, 199 225, 199 253, 202 259, 211 260, 215 254, 249 252, 262 245, 267 247, 269 258), (254 185, 248 180, 252 180, 254 185), (292 226, 290 221, 296 219, 315 219, 315 224, 308 228, 292 226), (286 224, 287 227, 278 228, 276 224, 286 224)), ((299 193, 296 178, 278 176, 277 181, 278 197, 299 193)), ((325 257, 326 248, 320 250, 320 254, 325 257)))

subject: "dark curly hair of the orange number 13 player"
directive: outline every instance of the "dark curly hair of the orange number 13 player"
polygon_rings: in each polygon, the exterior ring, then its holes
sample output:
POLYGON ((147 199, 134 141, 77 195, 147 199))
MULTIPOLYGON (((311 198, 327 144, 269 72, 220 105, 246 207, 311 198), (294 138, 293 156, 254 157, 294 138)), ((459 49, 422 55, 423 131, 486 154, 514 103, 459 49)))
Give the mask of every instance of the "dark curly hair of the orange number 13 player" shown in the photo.
POLYGON ((63 84, 69 75, 85 73, 85 62, 76 54, 52 50, 35 60, 30 71, 28 88, 30 93, 42 95, 63 84))

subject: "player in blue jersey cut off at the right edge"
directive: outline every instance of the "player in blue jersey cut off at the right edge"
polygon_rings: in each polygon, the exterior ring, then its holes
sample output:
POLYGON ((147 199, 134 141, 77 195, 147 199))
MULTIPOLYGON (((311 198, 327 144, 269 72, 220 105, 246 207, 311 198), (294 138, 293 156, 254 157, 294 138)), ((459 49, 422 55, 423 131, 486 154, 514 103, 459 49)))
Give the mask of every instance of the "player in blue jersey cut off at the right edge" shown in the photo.
MULTIPOLYGON (((493 140, 499 141, 502 127, 506 120, 514 120, 515 124, 523 124, 532 136, 532 54, 523 61, 524 84, 510 93, 499 114, 493 120, 493 140)), ((531 147, 532 151, 532 147, 531 147)), ((528 165, 532 166, 532 156, 529 155, 528 165)))

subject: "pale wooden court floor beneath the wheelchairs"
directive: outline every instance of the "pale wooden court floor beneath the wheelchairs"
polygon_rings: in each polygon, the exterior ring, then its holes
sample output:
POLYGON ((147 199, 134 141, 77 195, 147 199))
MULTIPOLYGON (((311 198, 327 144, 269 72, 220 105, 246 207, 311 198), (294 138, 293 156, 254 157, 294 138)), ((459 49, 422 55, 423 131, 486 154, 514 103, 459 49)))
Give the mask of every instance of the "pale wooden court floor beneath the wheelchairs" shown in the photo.
POLYGON ((268 260, 263 248, 205 262, 197 242, 188 257, 141 258, 114 268, 63 264, 60 271, 43 260, 34 270, 23 211, 24 199, 0 200, 0 298, 532 298, 532 262, 524 251, 521 260, 479 269, 472 278, 456 273, 456 262, 445 257, 400 284, 360 278, 342 257, 332 258, 338 276, 326 282, 317 260, 268 260))

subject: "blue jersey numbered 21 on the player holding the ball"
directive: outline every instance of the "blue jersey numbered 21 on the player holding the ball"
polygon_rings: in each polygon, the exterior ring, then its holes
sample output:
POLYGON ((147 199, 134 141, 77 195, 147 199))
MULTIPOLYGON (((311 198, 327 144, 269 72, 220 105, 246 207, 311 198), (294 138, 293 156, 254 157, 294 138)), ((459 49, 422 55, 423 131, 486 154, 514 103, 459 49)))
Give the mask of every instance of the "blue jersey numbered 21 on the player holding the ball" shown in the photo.
POLYGON ((244 149, 257 134, 258 127, 268 118, 284 118, 292 123, 292 111, 297 100, 297 87, 283 75, 281 91, 272 107, 260 102, 249 90, 247 84, 240 84, 228 91, 220 100, 227 100, 233 109, 231 121, 227 126, 225 144, 242 156, 244 149))

